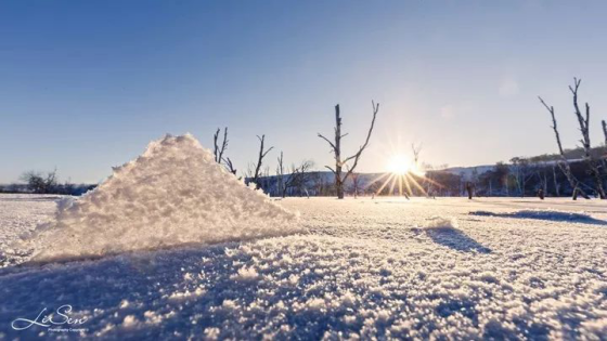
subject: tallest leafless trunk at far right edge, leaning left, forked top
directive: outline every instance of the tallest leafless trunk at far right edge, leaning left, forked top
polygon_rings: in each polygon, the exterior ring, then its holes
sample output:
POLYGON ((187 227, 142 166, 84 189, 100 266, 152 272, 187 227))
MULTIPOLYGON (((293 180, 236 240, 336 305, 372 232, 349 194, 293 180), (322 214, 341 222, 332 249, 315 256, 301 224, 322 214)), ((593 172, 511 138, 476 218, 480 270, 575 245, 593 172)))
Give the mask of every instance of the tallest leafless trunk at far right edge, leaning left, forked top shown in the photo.
POLYGON ((582 133, 582 140, 580 140, 580 142, 584 147, 584 161, 587 163, 590 171, 594 176, 598 196, 602 199, 605 199, 606 195, 603 187, 603 176, 600 174, 600 170, 598 169, 598 162, 591 154, 592 146, 590 143, 590 105, 585 103, 585 115, 582 115, 580 106, 578 105, 578 89, 580 88, 581 82, 581 79, 573 78, 573 87, 569 87, 569 90, 573 95, 573 108, 576 109, 576 116, 578 117, 578 122, 580 123, 580 132, 582 133))

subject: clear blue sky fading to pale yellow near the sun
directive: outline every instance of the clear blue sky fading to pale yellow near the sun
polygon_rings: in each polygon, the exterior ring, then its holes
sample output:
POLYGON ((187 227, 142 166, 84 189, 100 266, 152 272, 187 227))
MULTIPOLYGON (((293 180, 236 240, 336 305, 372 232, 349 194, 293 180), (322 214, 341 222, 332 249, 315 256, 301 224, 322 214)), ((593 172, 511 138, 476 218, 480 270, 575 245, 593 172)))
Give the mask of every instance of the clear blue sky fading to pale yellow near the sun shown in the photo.
POLYGON ((3 1, 0 183, 57 168, 99 182, 165 133, 210 146, 230 128, 240 170, 264 133, 288 162, 331 162, 340 103, 347 153, 376 132, 360 171, 389 149, 472 166, 556 150, 577 127, 583 79, 593 139, 607 118, 605 1, 3 1))

